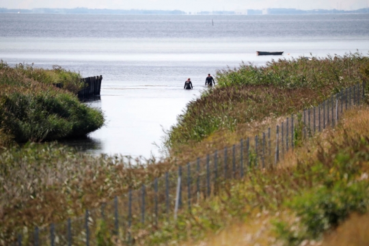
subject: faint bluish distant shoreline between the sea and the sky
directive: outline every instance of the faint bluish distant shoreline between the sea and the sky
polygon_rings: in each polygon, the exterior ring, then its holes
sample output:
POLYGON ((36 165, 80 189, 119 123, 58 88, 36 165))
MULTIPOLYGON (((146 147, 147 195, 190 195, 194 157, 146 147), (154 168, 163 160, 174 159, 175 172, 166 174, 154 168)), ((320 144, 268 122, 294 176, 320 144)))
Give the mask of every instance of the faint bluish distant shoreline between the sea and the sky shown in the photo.
POLYGON ((264 8, 264 9, 243 9, 236 10, 212 10, 212 11, 191 11, 184 12, 182 10, 140 10, 140 9, 108 9, 108 8, 0 8, 1 13, 22 13, 23 14, 245 14, 245 15, 259 15, 259 14, 365 14, 369 13, 369 8, 360 8, 357 10, 337 10, 337 9, 312 9, 300 10, 297 8, 264 8))

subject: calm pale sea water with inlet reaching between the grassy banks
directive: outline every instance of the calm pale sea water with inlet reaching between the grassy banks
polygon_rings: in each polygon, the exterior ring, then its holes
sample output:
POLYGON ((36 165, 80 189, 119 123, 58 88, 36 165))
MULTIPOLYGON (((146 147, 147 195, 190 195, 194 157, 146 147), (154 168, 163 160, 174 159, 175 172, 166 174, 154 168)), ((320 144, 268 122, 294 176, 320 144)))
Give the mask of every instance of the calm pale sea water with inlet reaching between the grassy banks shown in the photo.
POLYGON ((242 61, 369 51, 369 15, 111 16, 0 14, 0 59, 58 64, 83 77, 102 74, 106 126, 66 143, 95 154, 159 155, 163 129, 200 95, 208 73, 242 61), (213 23, 212 23, 213 20, 213 23), (182 90, 190 77, 194 90, 182 90))

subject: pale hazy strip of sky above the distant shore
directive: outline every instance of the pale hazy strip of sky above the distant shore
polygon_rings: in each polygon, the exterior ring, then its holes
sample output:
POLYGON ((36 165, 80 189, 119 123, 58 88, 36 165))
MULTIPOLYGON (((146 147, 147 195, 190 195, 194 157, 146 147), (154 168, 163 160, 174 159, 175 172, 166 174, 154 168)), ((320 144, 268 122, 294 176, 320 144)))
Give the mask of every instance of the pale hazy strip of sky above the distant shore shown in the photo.
POLYGON ((368 8, 369 0, 0 0, 0 8, 108 8, 120 10, 245 10, 298 8, 301 10, 368 8))

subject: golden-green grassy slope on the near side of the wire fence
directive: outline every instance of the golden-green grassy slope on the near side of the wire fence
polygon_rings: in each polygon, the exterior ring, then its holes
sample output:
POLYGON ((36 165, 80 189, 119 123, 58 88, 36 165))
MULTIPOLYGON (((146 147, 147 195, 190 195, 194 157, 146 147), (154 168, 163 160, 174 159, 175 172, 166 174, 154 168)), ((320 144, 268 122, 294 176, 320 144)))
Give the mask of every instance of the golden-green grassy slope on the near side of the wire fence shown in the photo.
MULTIPOLYGON (((290 152, 275 169, 254 169, 243 180, 225 182, 218 195, 183 211, 176 223, 150 230, 142 245, 292 246, 325 238, 328 245, 346 219, 368 212, 368 153, 365 106, 346 112, 335 129, 290 152)), ((352 245, 368 243, 364 236, 352 245)))

